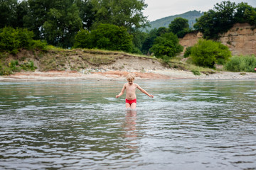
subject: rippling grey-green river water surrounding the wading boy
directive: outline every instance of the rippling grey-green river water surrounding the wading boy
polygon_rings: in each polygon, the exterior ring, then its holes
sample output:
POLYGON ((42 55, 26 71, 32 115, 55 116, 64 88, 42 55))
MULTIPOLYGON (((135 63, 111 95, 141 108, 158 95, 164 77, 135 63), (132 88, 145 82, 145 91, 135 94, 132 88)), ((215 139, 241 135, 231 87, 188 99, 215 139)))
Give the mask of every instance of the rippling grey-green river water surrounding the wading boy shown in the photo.
POLYGON ((256 81, 0 82, 0 169, 256 169, 256 81))

